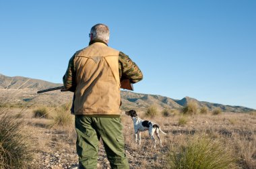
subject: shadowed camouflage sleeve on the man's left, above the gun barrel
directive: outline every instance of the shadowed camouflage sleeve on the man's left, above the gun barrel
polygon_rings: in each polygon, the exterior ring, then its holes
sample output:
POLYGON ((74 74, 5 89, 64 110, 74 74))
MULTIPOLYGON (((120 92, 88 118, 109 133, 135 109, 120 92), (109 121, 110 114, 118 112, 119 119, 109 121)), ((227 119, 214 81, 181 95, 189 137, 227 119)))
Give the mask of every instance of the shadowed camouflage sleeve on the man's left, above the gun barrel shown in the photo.
POLYGON ((68 91, 75 91, 75 64, 74 64, 75 54, 70 58, 69 65, 67 66, 67 71, 63 76, 63 85, 68 91))

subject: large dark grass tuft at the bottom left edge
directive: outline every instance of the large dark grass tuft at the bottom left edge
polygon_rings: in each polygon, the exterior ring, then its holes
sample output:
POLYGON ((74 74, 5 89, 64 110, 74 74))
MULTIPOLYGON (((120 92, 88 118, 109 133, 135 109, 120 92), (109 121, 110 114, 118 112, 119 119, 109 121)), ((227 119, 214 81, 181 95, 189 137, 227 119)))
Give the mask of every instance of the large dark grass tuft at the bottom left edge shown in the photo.
POLYGON ((32 160, 31 144, 22 131, 23 121, 0 112, 0 168, 27 168, 32 160))

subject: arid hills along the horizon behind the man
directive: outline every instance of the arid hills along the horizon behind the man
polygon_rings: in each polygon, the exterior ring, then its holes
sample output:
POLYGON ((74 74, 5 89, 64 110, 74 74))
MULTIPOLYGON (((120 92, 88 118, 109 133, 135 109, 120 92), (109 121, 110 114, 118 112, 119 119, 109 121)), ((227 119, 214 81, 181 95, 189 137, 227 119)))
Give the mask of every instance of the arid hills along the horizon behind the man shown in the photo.
MULTIPOLYGON (((6 93, 5 95, 7 95, 7 93, 11 93, 11 91, 13 90, 15 93, 18 93, 15 91, 17 89, 22 90, 22 92, 15 94, 15 97, 13 97, 13 99, 9 99, 9 101, 13 101, 15 103, 19 101, 28 102, 33 99, 33 101, 35 101, 36 104, 40 105, 59 105, 71 101, 73 94, 70 92, 61 93, 60 91, 52 91, 40 95, 36 94, 36 91, 38 90, 58 87, 61 85, 63 84, 56 84, 44 80, 37 80, 22 76, 9 77, 0 74, 0 91, 3 91, 1 93, 6 93)), ((253 109, 247 107, 230 106, 218 103, 209 103, 205 101, 197 101, 197 99, 193 99, 191 97, 184 97, 183 99, 178 100, 160 95, 133 93, 131 91, 121 91, 121 99, 122 109, 137 109, 140 111, 145 110, 150 105, 156 105, 156 107, 158 107, 158 109, 160 110, 165 108, 181 109, 190 101, 197 103, 199 108, 206 106, 210 110, 219 107, 220 109, 222 109, 222 111, 229 112, 253 111, 253 109)))

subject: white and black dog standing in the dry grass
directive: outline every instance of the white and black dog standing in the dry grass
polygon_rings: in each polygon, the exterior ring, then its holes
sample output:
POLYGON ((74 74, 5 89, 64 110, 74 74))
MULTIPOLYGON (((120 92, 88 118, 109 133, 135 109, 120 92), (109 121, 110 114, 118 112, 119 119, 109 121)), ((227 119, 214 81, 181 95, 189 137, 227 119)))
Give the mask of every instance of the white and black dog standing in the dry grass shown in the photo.
MULTIPOLYGON (((162 131, 160 129, 158 124, 156 124, 152 121, 140 119, 137 116, 137 113, 135 110, 125 111, 125 114, 131 116, 131 119, 133 119, 133 127, 134 127, 134 131, 135 131, 135 142, 136 143, 137 143, 137 134, 139 134, 139 145, 140 145, 141 144, 140 131, 148 130, 151 139, 154 140, 154 148, 156 148, 156 139, 154 138, 154 133, 156 133, 156 136, 160 140, 160 146, 162 147, 162 140, 160 139, 159 131, 161 131, 162 133, 164 133, 164 131, 162 131)), ((166 134, 166 133, 164 133, 164 134, 166 134)))

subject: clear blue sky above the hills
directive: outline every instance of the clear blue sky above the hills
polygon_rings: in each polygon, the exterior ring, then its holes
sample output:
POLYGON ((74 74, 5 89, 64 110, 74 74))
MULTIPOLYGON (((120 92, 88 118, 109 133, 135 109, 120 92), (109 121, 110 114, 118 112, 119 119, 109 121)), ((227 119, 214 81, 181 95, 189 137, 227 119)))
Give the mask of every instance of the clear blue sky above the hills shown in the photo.
POLYGON ((256 109, 256 1, 3 1, 0 73, 62 82, 96 23, 141 68, 135 93, 256 109))

